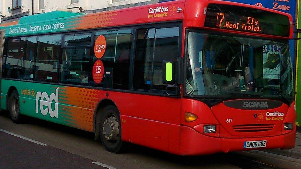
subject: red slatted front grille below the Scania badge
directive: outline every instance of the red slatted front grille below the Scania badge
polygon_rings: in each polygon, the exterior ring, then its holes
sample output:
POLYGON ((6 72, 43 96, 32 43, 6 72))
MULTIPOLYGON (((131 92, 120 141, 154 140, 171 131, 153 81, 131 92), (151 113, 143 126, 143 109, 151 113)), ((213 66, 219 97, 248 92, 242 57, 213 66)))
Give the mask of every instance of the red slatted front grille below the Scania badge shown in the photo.
POLYGON ((274 124, 243 124, 232 127, 235 132, 259 132, 273 130, 274 124))

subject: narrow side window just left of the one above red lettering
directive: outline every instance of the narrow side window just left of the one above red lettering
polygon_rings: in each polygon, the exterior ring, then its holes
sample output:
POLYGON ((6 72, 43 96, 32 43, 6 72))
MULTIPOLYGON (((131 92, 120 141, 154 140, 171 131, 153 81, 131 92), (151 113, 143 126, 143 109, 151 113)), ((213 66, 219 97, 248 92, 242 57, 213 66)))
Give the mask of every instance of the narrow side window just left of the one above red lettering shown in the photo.
POLYGON ((24 59, 24 78, 32 80, 34 77, 35 56, 37 53, 37 37, 27 38, 26 56, 24 59))

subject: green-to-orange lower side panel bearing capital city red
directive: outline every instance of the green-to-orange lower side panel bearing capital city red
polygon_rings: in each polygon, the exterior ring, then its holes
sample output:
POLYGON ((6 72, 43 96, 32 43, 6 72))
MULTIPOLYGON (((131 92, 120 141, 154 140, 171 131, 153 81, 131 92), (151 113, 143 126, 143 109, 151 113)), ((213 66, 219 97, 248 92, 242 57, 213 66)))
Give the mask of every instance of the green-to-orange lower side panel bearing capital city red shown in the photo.
POLYGON ((2 79, 1 108, 4 110, 10 87, 15 87, 19 93, 21 114, 93 131, 98 90, 2 79))

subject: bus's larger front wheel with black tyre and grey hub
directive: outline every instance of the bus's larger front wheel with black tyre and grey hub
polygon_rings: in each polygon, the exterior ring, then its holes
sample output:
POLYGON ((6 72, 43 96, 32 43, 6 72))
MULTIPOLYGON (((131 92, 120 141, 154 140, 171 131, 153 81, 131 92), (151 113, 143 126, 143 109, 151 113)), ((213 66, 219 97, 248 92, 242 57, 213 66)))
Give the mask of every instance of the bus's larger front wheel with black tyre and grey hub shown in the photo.
POLYGON ((112 153, 123 151, 124 142, 121 139, 121 123, 117 107, 109 105, 101 112, 100 136, 107 151, 112 153))

